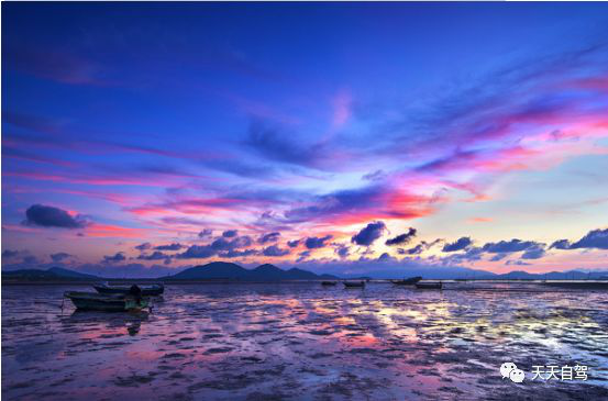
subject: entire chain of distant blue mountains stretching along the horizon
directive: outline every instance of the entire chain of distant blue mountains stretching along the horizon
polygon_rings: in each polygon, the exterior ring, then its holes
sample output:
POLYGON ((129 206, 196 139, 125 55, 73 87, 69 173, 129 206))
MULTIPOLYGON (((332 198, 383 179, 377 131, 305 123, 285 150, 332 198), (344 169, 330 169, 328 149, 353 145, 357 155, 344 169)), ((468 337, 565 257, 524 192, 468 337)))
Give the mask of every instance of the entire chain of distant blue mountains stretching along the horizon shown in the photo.
MULTIPOLYGON (((584 280, 584 279, 608 279, 608 270, 601 271, 551 271, 546 274, 531 274, 522 270, 515 270, 508 274, 497 275, 485 270, 473 270, 463 267, 444 267, 427 269, 407 269, 404 271, 378 270, 369 278, 404 278, 422 276, 425 279, 502 279, 502 280, 584 280)), ((2 271, 4 280, 27 280, 27 281, 54 281, 54 280, 103 280, 107 278, 87 275, 63 267, 42 269, 21 269, 2 271)), ((342 278, 362 278, 342 277, 342 278)), ((213 261, 207 265, 195 266, 179 271, 175 275, 159 277, 161 280, 234 280, 234 281, 281 281, 281 280, 336 280, 333 275, 317 275, 312 271, 297 267, 284 270, 274 265, 259 265, 253 269, 245 269, 233 263, 213 261)))

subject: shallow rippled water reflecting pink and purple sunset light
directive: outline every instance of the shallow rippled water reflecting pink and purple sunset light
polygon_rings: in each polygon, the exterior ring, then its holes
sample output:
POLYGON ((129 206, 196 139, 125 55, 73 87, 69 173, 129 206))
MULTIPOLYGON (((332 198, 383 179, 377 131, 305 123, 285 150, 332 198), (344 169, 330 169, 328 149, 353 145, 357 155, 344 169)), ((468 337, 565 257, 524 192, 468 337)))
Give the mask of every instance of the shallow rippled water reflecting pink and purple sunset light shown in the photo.
POLYGON ((5 400, 608 399, 608 293, 452 283, 168 286, 153 313, 2 287, 5 400), (502 379, 513 361, 521 385, 502 379), (533 365, 588 380, 531 380, 533 365))

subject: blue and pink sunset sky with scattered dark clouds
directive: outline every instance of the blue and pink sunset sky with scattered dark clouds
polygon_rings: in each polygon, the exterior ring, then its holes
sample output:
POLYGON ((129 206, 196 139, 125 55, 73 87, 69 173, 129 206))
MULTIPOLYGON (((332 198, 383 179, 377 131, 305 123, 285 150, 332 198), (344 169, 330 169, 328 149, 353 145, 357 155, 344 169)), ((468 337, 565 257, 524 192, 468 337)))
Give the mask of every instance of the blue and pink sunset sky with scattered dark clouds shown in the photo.
POLYGON ((608 268, 608 4, 2 4, 2 268, 608 268))

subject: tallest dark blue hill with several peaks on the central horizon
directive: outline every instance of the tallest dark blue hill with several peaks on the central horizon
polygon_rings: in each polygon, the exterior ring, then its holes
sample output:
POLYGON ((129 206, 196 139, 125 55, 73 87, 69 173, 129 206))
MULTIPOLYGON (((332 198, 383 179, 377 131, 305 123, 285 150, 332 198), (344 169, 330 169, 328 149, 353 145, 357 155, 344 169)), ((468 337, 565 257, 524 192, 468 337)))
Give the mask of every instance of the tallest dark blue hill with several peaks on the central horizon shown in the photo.
POLYGON ((167 280, 242 280, 242 281, 280 281, 280 280, 322 280, 338 279, 332 275, 316 275, 311 271, 291 268, 283 270, 274 265, 259 265, 254 269, 245 269, 236 264, 212 261, 202 266, 195 266, 173 276, 164 277, 167 280))

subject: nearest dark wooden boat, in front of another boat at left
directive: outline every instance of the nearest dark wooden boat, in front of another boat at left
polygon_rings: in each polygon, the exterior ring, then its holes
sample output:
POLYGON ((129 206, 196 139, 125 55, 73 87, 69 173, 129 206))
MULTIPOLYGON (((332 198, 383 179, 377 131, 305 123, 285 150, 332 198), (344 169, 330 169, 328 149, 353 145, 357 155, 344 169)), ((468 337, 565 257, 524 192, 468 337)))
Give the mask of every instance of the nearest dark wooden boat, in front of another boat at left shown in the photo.
POLYGON ((95 292, 66 291, 65 298, 69 298, 78 310, 124 312, 137 311, 150 305, 150 298, 121 294, 103 294, 95 292))

